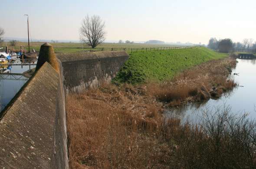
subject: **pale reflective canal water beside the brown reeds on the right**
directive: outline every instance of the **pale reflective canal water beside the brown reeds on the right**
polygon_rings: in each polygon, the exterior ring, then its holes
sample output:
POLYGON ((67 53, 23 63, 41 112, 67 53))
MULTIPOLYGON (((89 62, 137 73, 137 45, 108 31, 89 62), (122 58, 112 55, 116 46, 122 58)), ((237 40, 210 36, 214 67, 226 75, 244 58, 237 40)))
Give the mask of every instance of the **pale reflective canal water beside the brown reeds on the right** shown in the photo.
POLYGON ((220 99, 210 99, 204 103, 190 103, 185 106, 166 110, 166 117, 177 117, 181 120, 196 122, 203 111, 230 108, 233 114, 247 114, 256 119, 256 59, 236 59, 236 68, 231 77, 239 84, 233 91, 225 93, 220 99), (238 75, 233 75, 239 73, 238 75))

